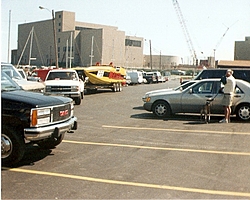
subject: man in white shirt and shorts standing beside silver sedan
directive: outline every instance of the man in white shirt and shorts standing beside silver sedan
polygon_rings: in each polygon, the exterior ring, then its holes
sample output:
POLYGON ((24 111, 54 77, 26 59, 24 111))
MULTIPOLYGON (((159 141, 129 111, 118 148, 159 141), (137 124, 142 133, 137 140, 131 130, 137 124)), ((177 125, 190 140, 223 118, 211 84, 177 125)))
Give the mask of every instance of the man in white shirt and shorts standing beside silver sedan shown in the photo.
POLYGON ((220 120, 220 123, 230 122, 231 106, 234 98, 234 90, 236 86, 235 78, 233 77, 233 70, 228 69, 226 72, 225 80, 223 81, 224 86, 224 98, 223 107, 225 118, 220 120))

